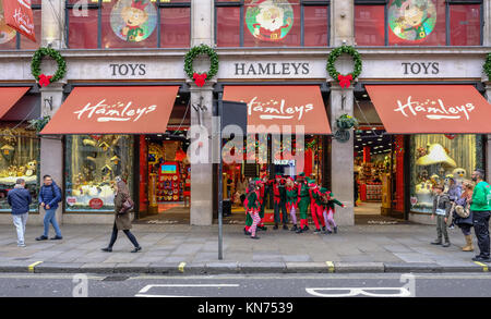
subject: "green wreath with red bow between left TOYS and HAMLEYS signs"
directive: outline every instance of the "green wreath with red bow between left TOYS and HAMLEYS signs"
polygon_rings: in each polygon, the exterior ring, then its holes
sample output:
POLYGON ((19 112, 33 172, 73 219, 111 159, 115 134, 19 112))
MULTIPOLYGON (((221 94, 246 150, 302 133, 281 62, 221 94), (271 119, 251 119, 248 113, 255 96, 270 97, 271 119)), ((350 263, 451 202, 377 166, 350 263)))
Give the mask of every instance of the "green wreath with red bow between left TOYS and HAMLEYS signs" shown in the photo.
POLYGON ((214 49, 206 45, 192 47, 184 57, 184 72, 194 79, 197 86, 203 86, 206 78, 212 78, 218 72, 218 54, 214 49), (197 73, 193 70, 193 61, 197 56, 206 54, 209 58, 209 70, 207 72, 197 73))

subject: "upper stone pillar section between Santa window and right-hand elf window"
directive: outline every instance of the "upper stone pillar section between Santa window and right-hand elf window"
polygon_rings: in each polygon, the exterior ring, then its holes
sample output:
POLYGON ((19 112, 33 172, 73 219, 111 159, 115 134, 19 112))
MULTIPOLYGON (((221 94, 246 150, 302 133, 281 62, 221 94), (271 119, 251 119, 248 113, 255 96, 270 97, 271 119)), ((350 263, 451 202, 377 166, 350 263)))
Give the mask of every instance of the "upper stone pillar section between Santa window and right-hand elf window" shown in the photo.
POLYGON ((355 44, 355 1, 331 1, 331 46, 355 44))

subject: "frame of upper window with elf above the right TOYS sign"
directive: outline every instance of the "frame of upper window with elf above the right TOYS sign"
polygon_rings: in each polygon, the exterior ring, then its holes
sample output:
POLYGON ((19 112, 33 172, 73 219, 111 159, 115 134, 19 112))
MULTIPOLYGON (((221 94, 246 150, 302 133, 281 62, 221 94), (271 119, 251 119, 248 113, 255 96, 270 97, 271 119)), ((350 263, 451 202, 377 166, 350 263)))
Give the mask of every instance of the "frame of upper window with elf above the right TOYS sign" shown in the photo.
MULTIPOLYGON (((384 47, 400 47, 400 46, 390 46, 388 45, 388 0, 355 0, 356 5, 384 5, 384 47)), ((480 34, 479 34, 479 46, 483 45, 482 33, 484 30, 484 1, 483 0, 445 0, 445 46, 451 46, 451 5, 462 5, 462 4, 479 4, 480 5, 480 34)), ((355 23, 355 21, 354 21, 355 23)), ((356 26, 355 26, 355 39, 356 39, 356 26)), ((415 46, 423 47, 423 46, 415 46)), ((436 47, 436 46, 429 46, 436 47)), ((453 46, 460 47, 460 46, 453 46)))

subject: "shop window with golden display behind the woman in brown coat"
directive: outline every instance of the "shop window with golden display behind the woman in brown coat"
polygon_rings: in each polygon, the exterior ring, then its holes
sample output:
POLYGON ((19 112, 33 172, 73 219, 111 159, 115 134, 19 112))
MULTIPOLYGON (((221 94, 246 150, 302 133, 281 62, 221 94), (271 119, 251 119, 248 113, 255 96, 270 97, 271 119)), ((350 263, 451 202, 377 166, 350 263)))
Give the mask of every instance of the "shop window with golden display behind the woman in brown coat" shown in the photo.
POLYGON ((67 136, 65 211, 113 211, 116 176, 132 189, 133 138, 128 135, 67 136))

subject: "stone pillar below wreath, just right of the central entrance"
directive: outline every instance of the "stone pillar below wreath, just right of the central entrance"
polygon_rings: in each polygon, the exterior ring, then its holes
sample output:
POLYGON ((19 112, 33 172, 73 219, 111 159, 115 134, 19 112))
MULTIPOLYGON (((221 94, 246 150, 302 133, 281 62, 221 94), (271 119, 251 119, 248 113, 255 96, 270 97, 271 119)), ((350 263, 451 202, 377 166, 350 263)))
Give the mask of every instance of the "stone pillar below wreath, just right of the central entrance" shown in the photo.
MULTIPOLYGON (((340 88, 337 84, 331 85, 331 130, 337 131, 336 119, 347 113, 352 115, 354 93, 352 87, 340 88)), ((350 130, 348 142, 342 143, 333 137, 331 147, 331 183, 334 197, 342 201, 346 208, 337 207, 336 222, 342 225, 355 224, 354 203, 354 132, 350 130)))

